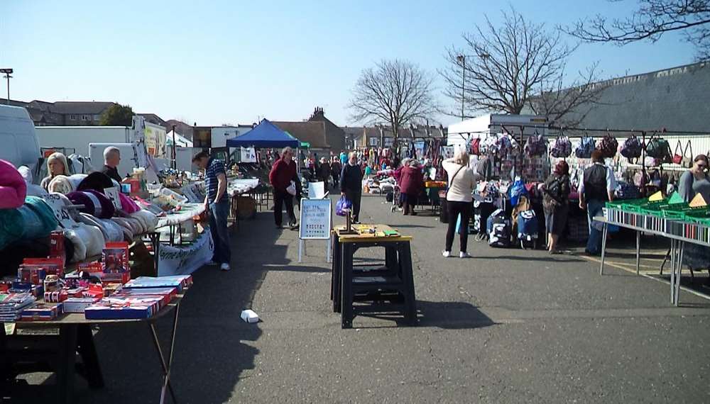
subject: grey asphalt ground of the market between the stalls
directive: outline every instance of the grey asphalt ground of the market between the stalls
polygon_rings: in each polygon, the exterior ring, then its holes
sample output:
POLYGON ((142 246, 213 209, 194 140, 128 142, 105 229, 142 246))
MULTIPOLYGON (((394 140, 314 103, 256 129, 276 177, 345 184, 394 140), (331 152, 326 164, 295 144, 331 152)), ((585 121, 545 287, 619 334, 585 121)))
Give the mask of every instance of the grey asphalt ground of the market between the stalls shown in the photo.
MULTIPOLYGON (((633 240, 609 242, 611 265, 600 276, 573 245, 550 256, 469 237, 473 258, 444 259, 444 224, 426 212, 391 213, 380 196, 363 198, 361 220, 413 235, 419 325, 358 317, 342 330, 325 242, 307 242, 299 264, 297 233, 258 213, 234 233, 234 269, 200 269, 182 303, 172 376, 180 403, 710 401, 710 301, 684 291, 672 306, 670 286, 635 274, 633 240), (243 308, 261 322, 242 322, 243 308)), ((666 247, 644 245, 652 273, 666 247)), ((169 327, 160 322, 166 344, 169 327)), ((76 402, 157 403, 150 338, 146 325, 101 327, 107 387, 77 381, 76 402)), ((53 376, 26 378, 43 386, 9 402, 51 399, 53 376)))

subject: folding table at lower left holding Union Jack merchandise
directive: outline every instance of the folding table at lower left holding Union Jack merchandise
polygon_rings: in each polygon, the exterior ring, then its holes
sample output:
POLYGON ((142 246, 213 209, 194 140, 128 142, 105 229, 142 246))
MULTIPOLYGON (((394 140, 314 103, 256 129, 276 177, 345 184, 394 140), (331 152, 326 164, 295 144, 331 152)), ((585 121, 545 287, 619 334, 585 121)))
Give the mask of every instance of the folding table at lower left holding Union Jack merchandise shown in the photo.
MULTIPOLYGON (((170 384, 170 368, 173 365, 173 354, 175 348, 175 334, 178 330, 178 318, 180 315, 180 303, 182 297, 185 296, 185 291, 183 291, 173 298, 173 301, 165 305, 158 313, 153 315, 151 318, 140 319, 140 320, 87 320, 84 318, 83 314, 79 313, 68 313, 62 316, 62 318, 53 321, 31 321, 31 322, 16 322, 16 327, 20 330, 31 329, 31 330, 58 330, 58 335, 13 335, 6 336, 4 327, 0 327, 0 347, 8 347, 7 351, 4 352, 1 359, 12 361, 13 359, 33 359, 38 361, 46 356, 48 349, 41 349, 40 351, 35 351, 33 349, 27 349, 26 344, 33 340, 35 342, 42 342, 42 346, 46 347, 46 342, 50 341, 50 345, 54 342, 54 347, 57 352, 56 358, 53 361, 55 363, 55 368, 51 369, 57 374, 57 389, 58 389, 58 403, 73 403, 72 395, 74 391, 74 376, 76 373, 76 353, 82 356, 82 361, 84 364, 84 369, 82 369, 82 376, 87 379, 90 388, 103 388, 104 387, 104 377, 102 376, 102 371, 99 366, 99 358, 97 356, 96 348, 94 346, 94 337, 92 335, 92 325, 121 325, 129 322, 146 322, 151 330, 151 335, 153 337, 153 344, 155 350, 158 353, 158 358, 160 359, 160 365, 163 371, 163 385, 160 388, 160 403, 165 402, 166 392, 170 392, 170 396, 173 398, 173 403, 177 403, 175 397, 175 391, 173 391, 173 386, 170 384), (173 327, 172 335, 170 336, 170 349, 168 352, 163 352, 160 347, 160 340, 158 338, 158 330, 155 327, 155 323, 160 319, 173 313, 173 327), (3 341, 5 340, 5 341, 3 341), (18 349, 11 349, 13 346, 17 345, 18 349)), ((49 369, 45 369, 49 370, 49 369)))

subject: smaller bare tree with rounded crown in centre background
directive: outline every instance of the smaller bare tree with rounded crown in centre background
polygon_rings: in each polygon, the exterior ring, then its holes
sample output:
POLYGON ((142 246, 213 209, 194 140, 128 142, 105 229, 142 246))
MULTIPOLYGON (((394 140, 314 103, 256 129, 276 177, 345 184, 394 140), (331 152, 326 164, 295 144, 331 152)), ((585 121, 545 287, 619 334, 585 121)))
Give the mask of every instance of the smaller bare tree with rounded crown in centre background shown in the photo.
POLYGON ((351 118, 356 122, 387 123, 396 146, 400 128, 437 111, 433 82, 433 77, 416 64, 381 60, 361 72, 352 90, 351 118))

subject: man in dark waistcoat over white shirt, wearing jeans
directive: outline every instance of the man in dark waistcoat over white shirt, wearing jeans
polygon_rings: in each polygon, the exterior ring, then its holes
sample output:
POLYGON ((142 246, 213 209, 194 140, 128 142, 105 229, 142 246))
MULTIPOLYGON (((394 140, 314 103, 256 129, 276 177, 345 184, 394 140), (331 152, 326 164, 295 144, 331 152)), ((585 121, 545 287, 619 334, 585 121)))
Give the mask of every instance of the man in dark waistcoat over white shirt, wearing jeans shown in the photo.
POLYGON ((604 165, 600 150, 591 153, 591 166, 587 167, 579 181, 579 208, 586 209, 589 220, 589 239, 584 250, 589 255, 599 255, 601 249, 601 223, 593 218, 602 215, 606 201, 613 201, 616 178, 611 167, 604 165))

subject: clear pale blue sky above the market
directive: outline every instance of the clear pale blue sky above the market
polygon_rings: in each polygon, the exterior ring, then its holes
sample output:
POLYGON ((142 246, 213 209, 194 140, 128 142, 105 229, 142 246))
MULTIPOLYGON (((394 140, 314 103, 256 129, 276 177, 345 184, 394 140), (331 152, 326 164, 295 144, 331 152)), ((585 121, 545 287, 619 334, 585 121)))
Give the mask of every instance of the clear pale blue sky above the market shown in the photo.
MULTIPOLYGON (((302 120, 322 106, 335 123, 352 125, 346 105, 361 69, 396 57, 436 72, 446 48, 484 13, 500 19, 508 4, 497 3, 1 0, 0 66, 15 69, 11 98, 23 101, 116 101, 199 125, 302 120)), ((510 5, 552 28, 598 12, 627 14, 635 3, 510 5)), ((690 63, 693 53, 678 34, 582 45, 569 72, 595 61, 604 77, 650 72, 690 63)))

